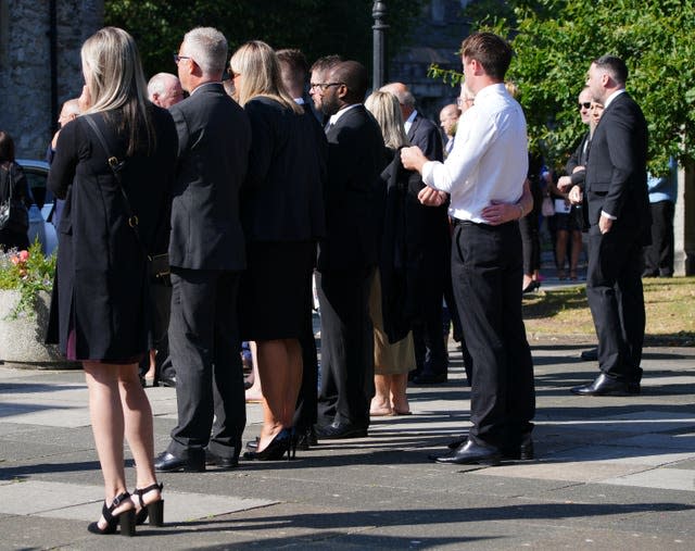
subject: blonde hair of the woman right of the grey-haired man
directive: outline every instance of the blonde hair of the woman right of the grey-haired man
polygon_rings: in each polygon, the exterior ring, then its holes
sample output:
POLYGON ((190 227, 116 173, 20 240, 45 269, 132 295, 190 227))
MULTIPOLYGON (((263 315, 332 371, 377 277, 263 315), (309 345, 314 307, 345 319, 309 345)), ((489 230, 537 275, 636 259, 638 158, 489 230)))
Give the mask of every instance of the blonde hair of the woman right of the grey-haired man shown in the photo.
POLYGON ((274 99, 278 103, 302 113, 302 108, 292 99, 282 84, 278 57, 267 43, 251 40, 239 47, 229 60, 232 73, 242 76, 237 89, 237 101, 244 105, 257 96, 274 99))

